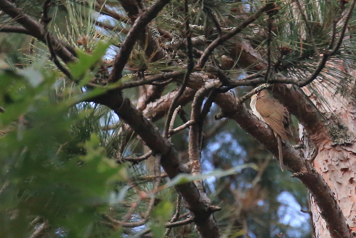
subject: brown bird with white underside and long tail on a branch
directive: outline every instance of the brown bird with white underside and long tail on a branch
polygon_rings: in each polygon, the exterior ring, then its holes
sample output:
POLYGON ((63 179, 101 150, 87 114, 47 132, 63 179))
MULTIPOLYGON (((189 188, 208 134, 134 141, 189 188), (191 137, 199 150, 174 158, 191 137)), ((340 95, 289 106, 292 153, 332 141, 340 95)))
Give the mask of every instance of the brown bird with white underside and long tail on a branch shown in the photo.
POLYGON ((282 139, 288 141, 291 135, 289 129, 289 112, 279 101, 269 96, 267 90, 261 90, 252 95, 250 107, 253 114, 272 129, 278 142, 279 164, 283 171, 282 139))

